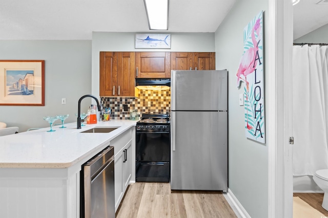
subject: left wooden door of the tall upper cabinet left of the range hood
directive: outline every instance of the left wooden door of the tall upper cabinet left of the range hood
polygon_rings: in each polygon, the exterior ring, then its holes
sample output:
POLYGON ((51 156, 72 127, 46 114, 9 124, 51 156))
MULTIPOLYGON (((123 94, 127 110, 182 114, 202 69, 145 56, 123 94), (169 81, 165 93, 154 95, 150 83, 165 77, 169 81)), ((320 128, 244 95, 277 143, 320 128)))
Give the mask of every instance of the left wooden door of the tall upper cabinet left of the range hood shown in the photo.
POLYGON ((117 87, 117 52, 100 52, 99 95, 115 96, 117 87))

